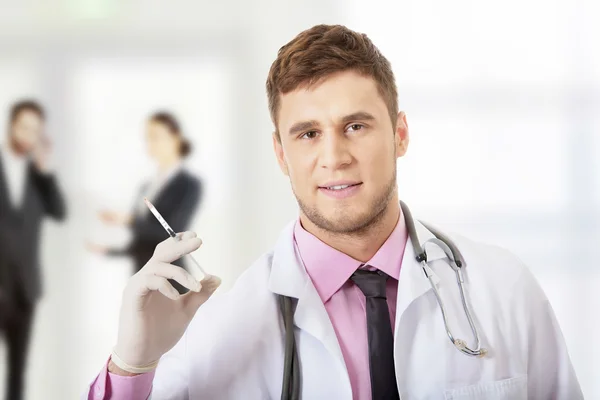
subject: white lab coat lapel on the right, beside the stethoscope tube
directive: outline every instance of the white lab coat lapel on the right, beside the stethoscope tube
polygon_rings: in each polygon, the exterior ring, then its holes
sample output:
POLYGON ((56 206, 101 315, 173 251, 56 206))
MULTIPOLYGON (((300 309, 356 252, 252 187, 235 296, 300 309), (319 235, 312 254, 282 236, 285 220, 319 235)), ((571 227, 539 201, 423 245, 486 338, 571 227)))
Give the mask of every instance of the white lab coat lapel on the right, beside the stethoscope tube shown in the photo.
MULTIPOLYGON (((434 237, 433 234, 423 226, 419 221, 415 220, 415 230, 421 247, 424 243, 434 237)), ((427 260, 429 262, 446 257, 442 249, 434 245, 425 246, 427 260)), ((398 332, 398 324, 401 316, 410 306, 410 304, 427 293, 431 289, 431 284, 423 272, 421 263, 416 259, 417 254, 413 248, 413 243, 410 237, 406 241, 406 248, 402 258, 402 267, 400 268, 400 277, 398 279, 398 296, 396 301, 396 327, 398 332)), ((434 283, 439 284, 439 277, 435 272, 431 271, 434 283)))

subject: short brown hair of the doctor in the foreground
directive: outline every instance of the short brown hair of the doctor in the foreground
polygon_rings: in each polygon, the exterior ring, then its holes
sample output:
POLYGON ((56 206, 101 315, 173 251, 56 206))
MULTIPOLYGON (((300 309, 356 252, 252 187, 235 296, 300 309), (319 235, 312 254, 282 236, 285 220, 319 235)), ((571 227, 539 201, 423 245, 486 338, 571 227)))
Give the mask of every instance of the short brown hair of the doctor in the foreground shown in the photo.
POLYGON ((277 130, 280 95, 321 82, 327 76, 355 70, 377 83, 392 125, 398 115, 398 92, 390 62, 364 33, 342 25, 316 25, 279 49, 267 78, 269 112, 277 130))

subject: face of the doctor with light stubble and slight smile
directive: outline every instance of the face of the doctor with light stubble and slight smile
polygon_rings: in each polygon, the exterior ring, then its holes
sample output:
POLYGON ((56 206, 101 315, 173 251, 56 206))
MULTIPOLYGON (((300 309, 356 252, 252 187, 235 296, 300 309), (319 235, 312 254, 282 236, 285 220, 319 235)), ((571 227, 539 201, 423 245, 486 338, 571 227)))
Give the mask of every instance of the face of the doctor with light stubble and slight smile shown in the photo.
POLYGON ((273 145, 303 222, 350 234, 378 222, 392 202, 397 207, 406 117, 399 113, 394 129, 372 78, 339 72, 281 95, 277 125, 273 145))

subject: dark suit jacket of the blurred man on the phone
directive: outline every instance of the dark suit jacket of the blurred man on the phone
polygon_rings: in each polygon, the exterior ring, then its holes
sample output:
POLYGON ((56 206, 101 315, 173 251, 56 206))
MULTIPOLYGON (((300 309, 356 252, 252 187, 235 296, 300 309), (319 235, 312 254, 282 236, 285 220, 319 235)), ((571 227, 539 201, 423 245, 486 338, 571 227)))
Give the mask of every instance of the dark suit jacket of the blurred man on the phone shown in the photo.
POLYGON ((45 216, 63 220, 66 206, 53 175, 27 166, 20 209, 10 201, 0 155, 0 290, 9 299, 20 296, 29 303, 42 294, 40 231, 45 216))

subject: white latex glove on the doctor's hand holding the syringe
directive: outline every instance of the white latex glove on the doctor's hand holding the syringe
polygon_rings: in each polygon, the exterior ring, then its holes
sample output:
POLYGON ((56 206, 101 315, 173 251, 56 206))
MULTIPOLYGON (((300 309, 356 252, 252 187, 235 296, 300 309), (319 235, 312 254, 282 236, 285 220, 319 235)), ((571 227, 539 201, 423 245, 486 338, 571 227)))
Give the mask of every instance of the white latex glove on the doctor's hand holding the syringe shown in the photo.
POLYGON ((193 232, 179 235, 181 241, 169 238, 156 247, 123 292, 114 351, 128 365, 149 365, 173 348, 198 308, 221 284, 211 275, 198 282, 183 268, 169 264, 202 244, 193 232), (176 280, 190 292, 180 295, 167 279, 176 280))

